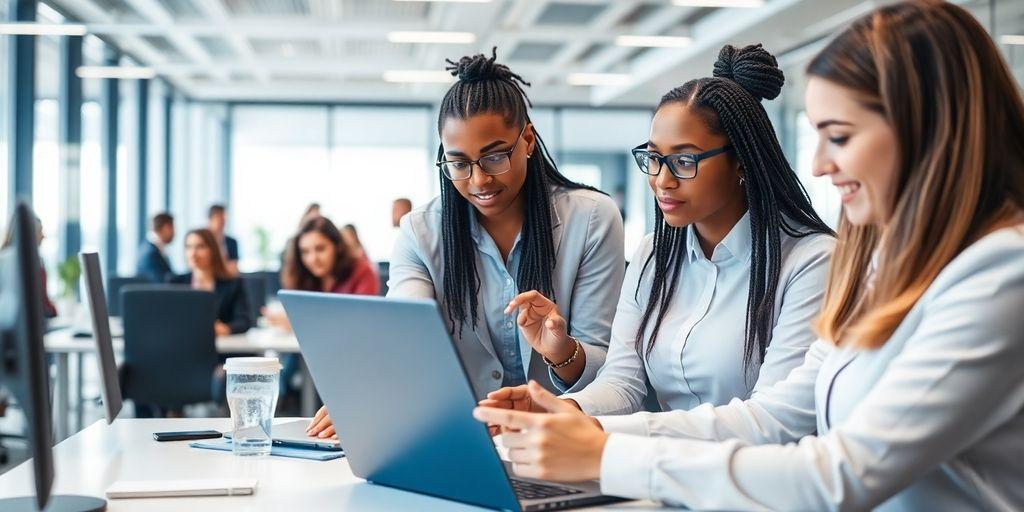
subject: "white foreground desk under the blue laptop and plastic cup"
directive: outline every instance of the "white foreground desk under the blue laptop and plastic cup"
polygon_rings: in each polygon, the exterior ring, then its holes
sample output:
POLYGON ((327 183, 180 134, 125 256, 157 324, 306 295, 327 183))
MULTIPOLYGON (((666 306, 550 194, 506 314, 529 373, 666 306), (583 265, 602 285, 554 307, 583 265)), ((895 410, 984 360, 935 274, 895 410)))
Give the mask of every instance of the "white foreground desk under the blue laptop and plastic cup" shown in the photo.
MULTIPOLYGON (((281 420, 287 421, 287 420, 281 420)), ((109 500, 108 510, 345 510, 478 511, 455 502, 366 483, 352 475, 347 459, 329 462, 281 457, 242 458, 227 452, 196 450, 188 441, 157 442, 152 433, 166 430, 228 428, 223 418, 118 420, 97 422, 57 444, 56 494, 102 497, 119 479, 256 478, 250 497, 109 500)), ((0 498, 34 493, 29 463, 0 475, 0 498)), ((598 510, 653 510, 651 503, 625 503, 598 510)))

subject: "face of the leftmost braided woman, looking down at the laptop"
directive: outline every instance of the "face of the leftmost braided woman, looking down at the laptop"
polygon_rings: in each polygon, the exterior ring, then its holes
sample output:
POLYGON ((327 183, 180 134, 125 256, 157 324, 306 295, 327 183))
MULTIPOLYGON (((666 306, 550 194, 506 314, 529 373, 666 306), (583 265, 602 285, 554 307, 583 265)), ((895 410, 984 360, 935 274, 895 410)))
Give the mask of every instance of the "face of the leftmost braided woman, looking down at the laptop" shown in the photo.
POLYGON ((446 161, 472 162, 508 152, 515 145, 508 172, 490 176, 474 165, 469 179, 452 181, 452 184, 484 217, 497 218, 513 206, 519 207, 519 193, 526 181, 526 157, 532 154, 536 143, 532 125, 523 130, 506 124, 499 114, 485 113, 467 119, 449 118, 440 135, 446 161))

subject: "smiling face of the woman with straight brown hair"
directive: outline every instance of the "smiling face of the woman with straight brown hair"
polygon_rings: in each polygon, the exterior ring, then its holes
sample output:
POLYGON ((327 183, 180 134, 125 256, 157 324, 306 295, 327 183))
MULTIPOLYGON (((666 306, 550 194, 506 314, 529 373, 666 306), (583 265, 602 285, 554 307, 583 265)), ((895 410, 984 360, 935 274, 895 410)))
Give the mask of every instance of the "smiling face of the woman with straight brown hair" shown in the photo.
POLYGON ((814 175, 828 176, 855 225, 884 225, 896 196, 896 134, 851 89, 818 77, 807 83, 807 117, 818 132, 814 175))

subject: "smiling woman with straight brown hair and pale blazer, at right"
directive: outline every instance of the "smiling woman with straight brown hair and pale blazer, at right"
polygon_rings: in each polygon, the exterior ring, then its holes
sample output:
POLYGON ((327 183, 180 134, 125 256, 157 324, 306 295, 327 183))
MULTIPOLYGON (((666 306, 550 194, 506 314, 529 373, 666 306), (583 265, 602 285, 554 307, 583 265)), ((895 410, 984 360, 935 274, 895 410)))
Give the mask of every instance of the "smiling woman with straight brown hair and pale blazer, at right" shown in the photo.
POLYGON ((879 9, 808 68, 843 197, 821 339, 748 400, 589 418, 478 409, 517 473, 691 508, 1024 508, 1024 102, 961 7, 879 9))

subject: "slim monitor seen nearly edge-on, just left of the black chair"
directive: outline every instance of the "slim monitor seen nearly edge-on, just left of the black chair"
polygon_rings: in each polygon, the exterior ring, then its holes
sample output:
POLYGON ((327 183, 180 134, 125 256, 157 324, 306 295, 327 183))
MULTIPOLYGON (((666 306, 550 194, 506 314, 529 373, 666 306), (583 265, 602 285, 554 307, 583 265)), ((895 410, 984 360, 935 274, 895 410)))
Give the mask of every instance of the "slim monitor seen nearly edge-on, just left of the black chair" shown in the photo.
POLYGON ((85 297, 92 317, 92 339, 96 343, 96 361, 102 379, 100 393, 106 411, 106 424, 114 423, 121 412, 121 384, 118 381, 118 365, 114 359, 114 343, 111 338, 111 316, 106 310, 106 295, 103 294, 103 273, 99 268, 99 255, 82 253, 82 273, 85 276, 85 297))

